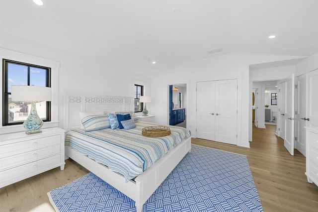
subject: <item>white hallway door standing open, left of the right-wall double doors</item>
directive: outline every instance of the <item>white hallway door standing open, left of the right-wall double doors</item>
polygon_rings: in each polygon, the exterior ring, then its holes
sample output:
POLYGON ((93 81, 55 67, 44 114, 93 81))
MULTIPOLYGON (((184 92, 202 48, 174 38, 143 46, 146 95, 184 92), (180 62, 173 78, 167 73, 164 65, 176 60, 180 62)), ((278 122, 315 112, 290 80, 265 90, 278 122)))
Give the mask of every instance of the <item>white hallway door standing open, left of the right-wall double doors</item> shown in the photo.
POLYGON ((286 80, 285 93, 285 138, 284 146, 291 155, 294 155, 295 138, 295 74, 286 80))

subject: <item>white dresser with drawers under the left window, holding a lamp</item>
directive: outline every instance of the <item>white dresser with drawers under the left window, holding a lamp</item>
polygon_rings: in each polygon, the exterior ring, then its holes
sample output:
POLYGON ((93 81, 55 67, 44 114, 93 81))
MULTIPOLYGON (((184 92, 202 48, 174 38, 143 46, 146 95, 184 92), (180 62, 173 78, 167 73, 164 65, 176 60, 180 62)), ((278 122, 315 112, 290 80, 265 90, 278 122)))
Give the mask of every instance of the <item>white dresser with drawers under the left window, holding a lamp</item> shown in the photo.
POLYGON ((64 136, 58 127, 0 135, 0 188, 59 166, 63 170, 64 136))

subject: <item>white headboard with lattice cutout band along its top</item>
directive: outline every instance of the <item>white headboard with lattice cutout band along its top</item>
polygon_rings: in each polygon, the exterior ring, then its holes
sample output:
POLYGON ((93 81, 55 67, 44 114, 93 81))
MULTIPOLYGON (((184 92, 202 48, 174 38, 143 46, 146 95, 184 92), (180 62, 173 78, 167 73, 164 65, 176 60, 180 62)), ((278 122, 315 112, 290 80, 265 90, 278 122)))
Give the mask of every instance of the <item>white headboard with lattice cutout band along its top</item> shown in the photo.
POLYGON ((79 111, 85 112, 116 112, 134 111, 132 97, 111 97, 95 95, 64 95, 65 130, 79 128, 79 111))

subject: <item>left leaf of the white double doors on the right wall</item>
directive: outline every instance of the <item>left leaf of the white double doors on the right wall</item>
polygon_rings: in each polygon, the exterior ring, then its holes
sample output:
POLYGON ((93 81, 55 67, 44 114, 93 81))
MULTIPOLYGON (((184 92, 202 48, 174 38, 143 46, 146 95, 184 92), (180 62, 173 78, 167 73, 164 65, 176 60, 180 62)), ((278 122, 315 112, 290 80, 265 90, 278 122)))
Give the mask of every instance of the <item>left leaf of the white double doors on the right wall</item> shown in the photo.
POLYGON ((307 79, 306 74, 296 78, 296 108, 295 110, 295 148, 306 157, 306 129, 307 125, 307 79), (296 139, 297 138, 297 139, 296 139))

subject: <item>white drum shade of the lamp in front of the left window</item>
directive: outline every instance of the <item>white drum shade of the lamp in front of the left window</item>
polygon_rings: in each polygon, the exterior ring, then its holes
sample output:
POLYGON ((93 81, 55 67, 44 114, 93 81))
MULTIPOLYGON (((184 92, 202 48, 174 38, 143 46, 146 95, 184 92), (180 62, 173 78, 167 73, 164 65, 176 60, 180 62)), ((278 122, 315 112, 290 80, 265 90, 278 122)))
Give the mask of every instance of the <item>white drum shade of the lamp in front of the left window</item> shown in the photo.
POLYGON ((40 86, 11 86, 11 101, 42 102, 52 100, 52 90, 40 86))

